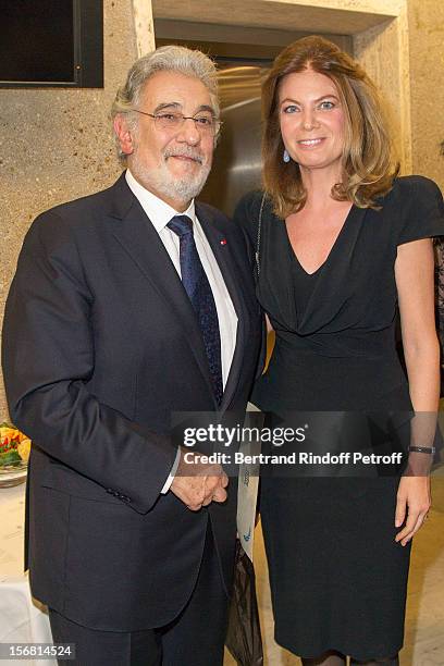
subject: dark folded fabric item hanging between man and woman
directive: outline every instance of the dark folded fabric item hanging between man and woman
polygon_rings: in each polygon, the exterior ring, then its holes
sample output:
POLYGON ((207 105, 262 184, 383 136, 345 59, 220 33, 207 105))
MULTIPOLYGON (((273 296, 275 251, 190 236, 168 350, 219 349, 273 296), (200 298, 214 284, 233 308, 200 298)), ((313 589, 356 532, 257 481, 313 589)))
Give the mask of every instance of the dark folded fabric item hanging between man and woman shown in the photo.
POLYGON ((255 569, 238 540, 225 645, 237 666, 263 666, 255 569))

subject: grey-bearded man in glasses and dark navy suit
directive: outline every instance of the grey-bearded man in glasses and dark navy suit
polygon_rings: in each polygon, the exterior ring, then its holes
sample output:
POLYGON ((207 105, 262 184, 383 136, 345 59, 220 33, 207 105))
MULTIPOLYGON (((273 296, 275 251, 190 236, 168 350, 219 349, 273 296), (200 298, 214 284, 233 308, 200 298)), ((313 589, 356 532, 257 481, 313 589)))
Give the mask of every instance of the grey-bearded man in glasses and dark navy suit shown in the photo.
POLYGON ((158 49, 113 116, 126 172, 37 218, 7 304, 32 590, 76 664, 217 666, 236 488, 185 462, 171 415, 243 411, 261 324, 240 232, 194 201, 219 130, 213 64, 158 49))

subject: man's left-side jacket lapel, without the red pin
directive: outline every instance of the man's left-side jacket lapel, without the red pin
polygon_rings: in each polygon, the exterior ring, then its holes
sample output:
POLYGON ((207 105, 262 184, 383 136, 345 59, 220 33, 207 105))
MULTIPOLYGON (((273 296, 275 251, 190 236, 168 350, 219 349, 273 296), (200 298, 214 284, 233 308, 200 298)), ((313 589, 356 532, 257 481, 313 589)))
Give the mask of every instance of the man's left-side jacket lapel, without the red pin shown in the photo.
POLYGON ((113 224, 113 235, 128 255, 128 259, 140 269, 151 287, 177 317, 178 325, 208 384, 209 393, 213 395, 199 324, 177 271, 158 232, 127 186, 124 175, 114 187, 116 196, 111 217, 118 223, 113 224))

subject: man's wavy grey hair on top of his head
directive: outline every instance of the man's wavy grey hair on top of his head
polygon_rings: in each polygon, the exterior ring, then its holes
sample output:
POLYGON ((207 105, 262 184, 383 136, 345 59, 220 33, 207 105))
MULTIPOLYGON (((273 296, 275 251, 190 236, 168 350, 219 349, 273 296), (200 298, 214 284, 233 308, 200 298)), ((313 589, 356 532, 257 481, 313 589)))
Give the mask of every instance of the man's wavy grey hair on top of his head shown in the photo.
MULTIPOLYGON (((120 87, 115 95, 111 107, 111 119, 113 120, 119 113, 125 113, 128 124, 135 128, 137 114, 133 110, 140 101, 146 82, 157 72, 164 71, 178 72, 201 81, 210 94, 215 115, 219 118, 218 72, 213 61, 201 51, 170 45, 136 60, 128 72, 125 85, 120 87)), ((118 150, 120 160, 125 162, 126 156, 120 148, 118 150)))

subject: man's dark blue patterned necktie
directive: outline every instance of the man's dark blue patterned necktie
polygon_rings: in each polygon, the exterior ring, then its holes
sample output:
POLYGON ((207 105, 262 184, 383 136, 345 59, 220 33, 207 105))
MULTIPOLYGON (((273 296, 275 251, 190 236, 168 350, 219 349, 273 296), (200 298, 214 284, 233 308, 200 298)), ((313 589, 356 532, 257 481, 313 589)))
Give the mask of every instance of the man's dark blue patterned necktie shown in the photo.
POLYGON ((223 387, 218 311, 210 283, 197 252, 193 221, 187 215, 174 215, 166 226, 177 234, 180 239, 182 284, 199 320, 214 397, 220 405, 223 387))

